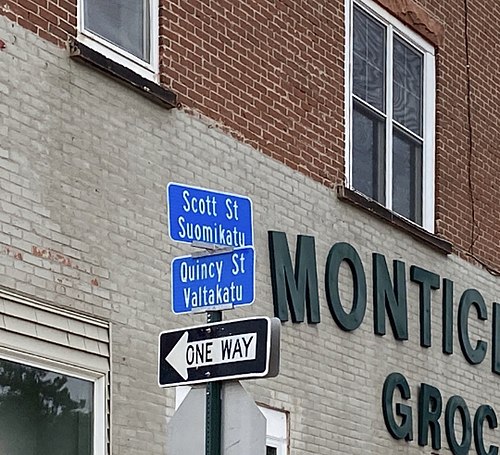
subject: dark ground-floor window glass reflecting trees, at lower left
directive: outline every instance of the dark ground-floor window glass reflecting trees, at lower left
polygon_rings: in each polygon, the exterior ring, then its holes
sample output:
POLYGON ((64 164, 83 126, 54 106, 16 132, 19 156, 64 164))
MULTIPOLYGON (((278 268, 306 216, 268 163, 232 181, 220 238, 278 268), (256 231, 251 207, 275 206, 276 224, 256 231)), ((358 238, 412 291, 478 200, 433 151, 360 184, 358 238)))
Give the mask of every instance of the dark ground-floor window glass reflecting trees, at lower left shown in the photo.
POLYGON ((93 384, 0 359, 0 453, 91 455, 93 384))

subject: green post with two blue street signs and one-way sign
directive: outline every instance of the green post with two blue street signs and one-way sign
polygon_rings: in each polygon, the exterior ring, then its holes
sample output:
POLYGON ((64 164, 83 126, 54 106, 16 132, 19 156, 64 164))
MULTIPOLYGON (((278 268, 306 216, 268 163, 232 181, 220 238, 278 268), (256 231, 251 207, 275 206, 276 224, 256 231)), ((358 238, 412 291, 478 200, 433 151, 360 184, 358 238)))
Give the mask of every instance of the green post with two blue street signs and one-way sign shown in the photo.
POLYGON ((255 295, 252 201, 170 183, 170 238, 205 249, 172 261, 172 311, 207 311, 207 326, 160 334, 159 384, 207 382, 205 454, 221 454, 221 383, 276 376, 279 328, 268 318, 222 323, 222 311, 255 295), (271 346, 273 345, 273 346, 271 346))

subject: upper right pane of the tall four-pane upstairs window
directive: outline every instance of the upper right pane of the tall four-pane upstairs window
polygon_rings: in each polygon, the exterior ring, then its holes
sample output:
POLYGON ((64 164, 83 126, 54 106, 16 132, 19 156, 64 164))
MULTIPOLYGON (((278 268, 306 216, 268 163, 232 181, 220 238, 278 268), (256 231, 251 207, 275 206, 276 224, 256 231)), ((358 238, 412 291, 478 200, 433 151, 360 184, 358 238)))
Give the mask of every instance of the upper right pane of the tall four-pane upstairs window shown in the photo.
POLYGON ((394 37, 394 119, 422 135, 422 54, 394 37))

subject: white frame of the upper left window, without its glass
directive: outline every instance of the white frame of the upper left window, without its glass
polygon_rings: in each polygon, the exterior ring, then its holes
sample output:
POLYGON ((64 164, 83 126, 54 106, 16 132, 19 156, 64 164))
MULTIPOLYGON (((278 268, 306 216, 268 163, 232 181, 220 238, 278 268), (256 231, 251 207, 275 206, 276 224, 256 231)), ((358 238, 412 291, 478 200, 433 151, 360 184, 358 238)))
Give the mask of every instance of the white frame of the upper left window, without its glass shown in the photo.
POLYGON ((85 0, 78 0, 77 17, 78 17, 78 33, 77 40, 83 45, 99 52, 104 57, 113 60, 114 62, 132 70, 139 76, 151 80, 159 81, 159 5, 158 0, 149 1, 149 33, 150 33, 150 55, 149 63, 132 55, 119 46, 101 38, 85 28, 84 23, 84 3, 85 0))

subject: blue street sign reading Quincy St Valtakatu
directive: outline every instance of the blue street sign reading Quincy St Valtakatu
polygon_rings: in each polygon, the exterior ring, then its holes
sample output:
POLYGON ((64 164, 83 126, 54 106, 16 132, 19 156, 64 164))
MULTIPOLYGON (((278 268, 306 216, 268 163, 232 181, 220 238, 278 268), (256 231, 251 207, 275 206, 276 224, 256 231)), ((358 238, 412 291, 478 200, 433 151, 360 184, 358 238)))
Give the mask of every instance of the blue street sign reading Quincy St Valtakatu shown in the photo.
POLYGON ((254 301, 254 249, 239 248, 209 256, 172 261, 172 311, 214 311, 218 306, 254 301))

